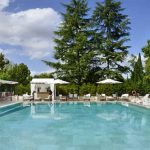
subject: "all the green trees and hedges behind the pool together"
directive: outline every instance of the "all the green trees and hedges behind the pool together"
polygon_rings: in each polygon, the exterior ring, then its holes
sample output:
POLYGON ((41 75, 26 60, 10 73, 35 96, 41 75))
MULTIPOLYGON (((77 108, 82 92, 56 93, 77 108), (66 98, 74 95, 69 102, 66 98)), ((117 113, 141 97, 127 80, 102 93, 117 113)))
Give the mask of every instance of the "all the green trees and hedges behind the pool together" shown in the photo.
MULTIPOLYGON (((150 40, 142 49, 146 58, 145 68, 141 55, 137 62, 132 55, 129 65, 124 65, 129 46, 129 24, 121 2, 104 0, 96 3, 91 18, 86 0, 70 0, 64 4, 66 9, 63 22, 55 32, 55 62, 43 61, 55 68, 52 74, 42 73, 34 78, 57 78, 69 81, 69 85, 57 85, 57 95, 78 93, 80 95, 96 93, 112 95, 132 93, 141 95, 150 93, 150 40), (145 70, 144 70, 145 69, 145 70), (122 74, 131 72, 131 79, 124 80, 122 74), (124 81, 119 85, 95 85, 103 78, 124 81), (144 80, 143 80, 144 78, 144 80), (144 82, 143 82, 144 81, 144 82)), ((19 82, 16 92, 30 92, 30 70, 25 64, 11 64, 0 53, 0 79, 19 82)), ((6 87, 3 87, 6 88, 6 87)))

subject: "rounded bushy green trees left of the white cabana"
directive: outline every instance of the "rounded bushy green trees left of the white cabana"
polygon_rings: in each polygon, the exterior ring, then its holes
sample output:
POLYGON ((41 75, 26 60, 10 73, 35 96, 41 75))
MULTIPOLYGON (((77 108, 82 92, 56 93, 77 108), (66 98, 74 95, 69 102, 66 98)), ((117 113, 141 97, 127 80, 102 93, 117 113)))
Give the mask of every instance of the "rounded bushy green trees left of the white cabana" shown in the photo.
POLYGON ((0 70, 0 79, 18 82, 14 87, 2 85, 2 91, 11 91, 15 88, 15 93, 19 95, 30 92, 30 70, 25 64, 11 64, 3 54, 0 54, 0 70))

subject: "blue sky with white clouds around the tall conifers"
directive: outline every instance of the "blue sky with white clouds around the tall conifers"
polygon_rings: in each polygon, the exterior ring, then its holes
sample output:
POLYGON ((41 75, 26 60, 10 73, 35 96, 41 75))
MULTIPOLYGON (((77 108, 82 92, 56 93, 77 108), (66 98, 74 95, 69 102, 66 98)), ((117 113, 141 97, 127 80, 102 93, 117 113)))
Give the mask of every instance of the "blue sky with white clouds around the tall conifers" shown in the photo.
MULTIPOLYGON (((25 63, 32 73, 50 72, 41 60, 53 60, 54 35, 69 0, 1 0, 0 51, 14 63, 25 63)), ((94 9, 98 0, 88 0, 94 9)), ((99 0, 102 1, 102 0, 99 0)), ((131 21, 128 45, 137 55, 150 39, 150 1, 121 0, 131 21)))

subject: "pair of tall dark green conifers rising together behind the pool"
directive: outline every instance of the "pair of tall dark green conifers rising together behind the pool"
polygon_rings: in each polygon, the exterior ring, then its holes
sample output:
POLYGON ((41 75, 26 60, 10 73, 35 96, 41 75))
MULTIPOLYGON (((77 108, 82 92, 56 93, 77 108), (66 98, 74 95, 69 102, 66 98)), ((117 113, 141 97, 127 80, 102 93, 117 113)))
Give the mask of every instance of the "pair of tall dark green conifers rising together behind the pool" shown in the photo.
POLYGON ((91 18, 86 0, 71 0, 64 7, 64 20, 55 32, 57 62, 44 62, 59 78, 78 85, 104 77, 122 79, 128 70, 122 64, 128 54, 130 22, 121 2, 97 3, 91 18))

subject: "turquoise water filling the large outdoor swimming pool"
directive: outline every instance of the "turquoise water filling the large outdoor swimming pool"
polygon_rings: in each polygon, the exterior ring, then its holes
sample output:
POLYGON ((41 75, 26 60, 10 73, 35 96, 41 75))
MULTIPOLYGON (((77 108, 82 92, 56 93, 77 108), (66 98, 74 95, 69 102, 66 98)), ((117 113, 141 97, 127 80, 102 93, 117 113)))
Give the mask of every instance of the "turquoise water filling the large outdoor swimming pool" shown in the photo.
POLYGON ((58 103, 0 117, 0 150, 149 150, 150 111, 135 106, 58 103))

